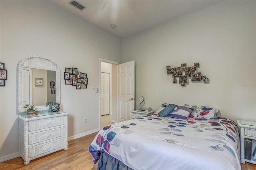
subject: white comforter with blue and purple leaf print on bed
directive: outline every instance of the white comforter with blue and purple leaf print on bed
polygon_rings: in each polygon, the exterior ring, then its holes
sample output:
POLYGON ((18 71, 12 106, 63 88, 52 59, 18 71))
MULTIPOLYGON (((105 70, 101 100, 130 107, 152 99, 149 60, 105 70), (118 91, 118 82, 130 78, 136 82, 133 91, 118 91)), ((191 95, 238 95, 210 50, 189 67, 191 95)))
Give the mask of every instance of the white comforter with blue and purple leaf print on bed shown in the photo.
POLYGON ((240 170, 240 142, 230 119, 143 117, 98 132, 89 151, 100 152, 135 170, 240 170))

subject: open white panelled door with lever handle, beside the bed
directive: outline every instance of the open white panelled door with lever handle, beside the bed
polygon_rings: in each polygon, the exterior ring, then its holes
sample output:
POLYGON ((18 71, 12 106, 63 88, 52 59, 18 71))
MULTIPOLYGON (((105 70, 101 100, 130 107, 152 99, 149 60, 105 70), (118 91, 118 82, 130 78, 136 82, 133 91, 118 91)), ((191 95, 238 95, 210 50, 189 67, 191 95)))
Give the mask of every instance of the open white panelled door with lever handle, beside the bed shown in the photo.
POLYGON ((135 61, 118 65, 118 122, 132 119, 135 96, 135 61))

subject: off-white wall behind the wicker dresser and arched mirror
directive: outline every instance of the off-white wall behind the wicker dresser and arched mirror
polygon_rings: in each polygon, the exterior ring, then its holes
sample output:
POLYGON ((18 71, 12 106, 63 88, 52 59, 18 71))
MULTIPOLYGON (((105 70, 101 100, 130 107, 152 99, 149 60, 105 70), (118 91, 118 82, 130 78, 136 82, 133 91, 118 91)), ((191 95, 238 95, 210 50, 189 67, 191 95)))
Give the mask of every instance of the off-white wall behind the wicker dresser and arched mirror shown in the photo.
POLYGON ((75 67, 88 74, 88 88, 65 85, 61 74, 61 110, 68 115, 69 139, 99 129, 98 61, 121 61, 121 39, 67 12, 50 1, 0 1, 0 61, 8 70, 5 87, 0 88, 1 161, 19 152, 16 113, 16 66, 20 59, 41 55, 60 66, 75 67), (83 123, 83 118, 87 123, 83 123))

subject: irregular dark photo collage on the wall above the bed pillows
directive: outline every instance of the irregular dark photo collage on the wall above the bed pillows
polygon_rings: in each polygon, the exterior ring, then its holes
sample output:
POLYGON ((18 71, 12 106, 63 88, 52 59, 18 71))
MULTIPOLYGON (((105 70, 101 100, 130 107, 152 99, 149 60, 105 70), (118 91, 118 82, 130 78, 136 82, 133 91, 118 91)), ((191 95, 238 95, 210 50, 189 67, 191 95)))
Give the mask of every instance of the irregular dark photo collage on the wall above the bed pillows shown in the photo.
POLYGON ((172 74, 172 83, 177 83, 177 78, 179 80, 179 84, 184 87, 188 85, 188 78, 191 77, 192 82, 203 82, 209 83, 209 79, 206 76, 203 76, 201 72, 197 72, 197 68, 199 67, 199 63, 194 63, 194 66, 187 67, 186 63, 181 64, 181 67, 167 66, 167 75, 172 74), (185 75, 184 75, 185 72, 185 75))

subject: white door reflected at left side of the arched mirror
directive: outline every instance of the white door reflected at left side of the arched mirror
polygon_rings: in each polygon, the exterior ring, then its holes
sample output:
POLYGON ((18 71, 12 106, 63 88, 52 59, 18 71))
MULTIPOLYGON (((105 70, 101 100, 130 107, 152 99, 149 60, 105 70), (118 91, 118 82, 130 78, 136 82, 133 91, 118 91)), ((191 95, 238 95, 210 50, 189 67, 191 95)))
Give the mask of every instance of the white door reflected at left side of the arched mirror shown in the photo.
POLYGON ((32 104, 31 97, 30 97, 30 70, 23 70, 23 103, 22 106, 26 104, 32 104))

